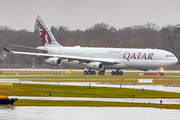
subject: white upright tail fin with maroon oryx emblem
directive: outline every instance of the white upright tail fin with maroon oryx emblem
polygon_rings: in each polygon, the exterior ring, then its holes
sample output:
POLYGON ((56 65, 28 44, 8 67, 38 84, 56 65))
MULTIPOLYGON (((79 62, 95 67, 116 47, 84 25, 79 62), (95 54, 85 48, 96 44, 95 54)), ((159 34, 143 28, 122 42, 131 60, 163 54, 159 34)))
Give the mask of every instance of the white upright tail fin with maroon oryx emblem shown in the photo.
POLYGON ((42 46, 58 46, 62 47, 56 39, 54 38, 51 31, 48 29, 48 26, 46 25, 45 21, 41 18, 36 19, 36 24, 38 26, 39 35, 41 38, 42 46))

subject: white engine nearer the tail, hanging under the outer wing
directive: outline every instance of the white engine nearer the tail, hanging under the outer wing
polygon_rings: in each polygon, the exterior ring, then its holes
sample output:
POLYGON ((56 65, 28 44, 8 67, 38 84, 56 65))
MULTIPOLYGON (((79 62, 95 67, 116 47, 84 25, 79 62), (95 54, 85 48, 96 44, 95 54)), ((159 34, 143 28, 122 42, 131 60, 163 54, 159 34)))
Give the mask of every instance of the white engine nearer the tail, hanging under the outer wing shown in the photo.
POLYGON ((58 66, 62 64, 62 60, 60 58, 48 58, 45 60, 46 64, 58 66))

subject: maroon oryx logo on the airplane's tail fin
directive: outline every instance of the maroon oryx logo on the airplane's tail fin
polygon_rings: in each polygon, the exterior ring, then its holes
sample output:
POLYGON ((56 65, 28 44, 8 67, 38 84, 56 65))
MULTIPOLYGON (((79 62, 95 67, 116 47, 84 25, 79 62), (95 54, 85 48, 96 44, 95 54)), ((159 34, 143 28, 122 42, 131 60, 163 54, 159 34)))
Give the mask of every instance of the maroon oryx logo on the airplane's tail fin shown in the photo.
POLYGON ((36 20, 36 21, 37 21, 38 27, 41 28, 41 30, 39 29, 39 32, 40 32, 42 45, 44 46, 46 42, 51 44, 52 40, 51 40, 48 32, 46 31, 46 29, 43 27, 43 25, 38 20, 36 20))

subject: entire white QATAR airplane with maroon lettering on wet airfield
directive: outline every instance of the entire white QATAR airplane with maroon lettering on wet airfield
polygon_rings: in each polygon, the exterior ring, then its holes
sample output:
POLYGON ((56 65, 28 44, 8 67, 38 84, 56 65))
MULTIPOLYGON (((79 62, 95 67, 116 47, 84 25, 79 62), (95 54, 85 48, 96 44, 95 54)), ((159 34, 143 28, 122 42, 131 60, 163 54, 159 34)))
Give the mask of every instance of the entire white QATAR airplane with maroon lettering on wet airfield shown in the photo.
MULTIPOLYGON (((85 67, 84 75, 104 75, 106 69, 111 75, 123 75, 122 69, 136 68, 149 71, 154 68, 170 67, 178 62, 171 52, 161 49, 134 49, 134 48, 99 48, 99 47, 65 47, 59 44, 48 29, 45 21, 36 19, 42 46, 34 48, 40 53, 10 51, 14 54, 35 55, 43 57, 46 64, 60 66, 62 63, 85 67)), ((25 47, 25 46, 21 46, 25 47)), ((27 47, 30 48, 30 47, 27 47)), ((160 72, 160 75, 164 73, 160 72)))

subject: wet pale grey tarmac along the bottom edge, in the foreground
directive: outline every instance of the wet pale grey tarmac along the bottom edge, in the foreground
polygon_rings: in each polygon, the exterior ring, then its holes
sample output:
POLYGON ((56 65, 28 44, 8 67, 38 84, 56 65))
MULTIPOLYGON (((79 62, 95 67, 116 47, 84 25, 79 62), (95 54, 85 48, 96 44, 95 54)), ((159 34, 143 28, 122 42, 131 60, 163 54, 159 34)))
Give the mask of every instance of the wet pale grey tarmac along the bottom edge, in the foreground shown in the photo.
POLYGON ((179 113, 145 107, 0 107, 1 120, 179 120, 179 113))

